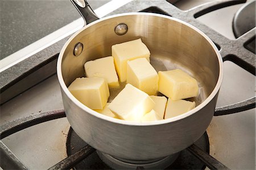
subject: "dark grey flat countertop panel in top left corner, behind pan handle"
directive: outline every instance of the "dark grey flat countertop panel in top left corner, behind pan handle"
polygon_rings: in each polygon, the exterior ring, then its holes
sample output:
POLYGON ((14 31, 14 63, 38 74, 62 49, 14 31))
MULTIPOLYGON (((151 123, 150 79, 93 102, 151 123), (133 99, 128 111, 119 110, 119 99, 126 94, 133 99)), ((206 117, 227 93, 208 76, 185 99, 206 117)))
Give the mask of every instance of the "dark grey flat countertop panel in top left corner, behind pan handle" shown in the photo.
MULTIPOLYGON (((92 9, 109 1, 88 0, 92 9)), ((80 17, 69 0, 1 0, 0 60, 80 17)))

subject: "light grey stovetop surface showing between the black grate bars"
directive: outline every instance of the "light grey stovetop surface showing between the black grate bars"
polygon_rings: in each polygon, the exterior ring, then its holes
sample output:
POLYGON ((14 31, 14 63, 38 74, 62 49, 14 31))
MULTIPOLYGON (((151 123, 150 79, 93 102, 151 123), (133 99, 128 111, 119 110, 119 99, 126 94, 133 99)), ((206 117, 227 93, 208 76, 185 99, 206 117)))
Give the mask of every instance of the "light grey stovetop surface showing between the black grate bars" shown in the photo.
MULTIPOLYGON (((185 9, 188 3, 184 4, 180 6, 185 9)), ((241 6, 226 7, 198 19, 220 34, 234 39, 232 19, 241 6)), ((253 96, 255 76, 231 61, 225 61, 224 81, 217 106, 253 96)), ((32 113, 60 108, 63 108, 63 103, 59 83, 56 75, 53 75, 2 105, 0 125, 32 113)), ((56 119, 17 132, 2 141, 28 168, 47 169, 67 157, 65 142, 69 127, 66 118, 56 119)), ((231 169, 255 169, 255 109, 213 117, 207 132, 210 155, 231 169)))

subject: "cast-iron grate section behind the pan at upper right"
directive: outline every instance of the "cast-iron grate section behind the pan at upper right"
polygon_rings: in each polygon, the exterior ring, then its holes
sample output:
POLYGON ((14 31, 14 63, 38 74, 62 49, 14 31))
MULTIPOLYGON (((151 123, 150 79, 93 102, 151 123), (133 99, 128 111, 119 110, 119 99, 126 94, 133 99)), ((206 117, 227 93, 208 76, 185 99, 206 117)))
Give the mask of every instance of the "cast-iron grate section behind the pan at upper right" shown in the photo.
MULTIPOLYGON (((246 32, 244 35, 236 40, 230 40, 218 33, 217 31, 213 30, 212 28, 205 26, 205 24, 201 23, 194 16, 198 15, 197 17, 199 17, 199 14, 201 16, 214 10, 245 2, 245 0, 210 2, 195 7, 191 10, 183 11, 167 1, 148 1, 146 3, 132 1, 125 6, 126 8, 121 7, 117 10, 117 12, 122 13, 122 10, 126 10, 127 12, 143 11, 144 9, 157 6, 160 10, 163 10, 164 13, 173 16, 174 18, 184 20, 185 22, 199 28, 207 36, 209 36, 209 38, 212 39, 214 43, 219 45, 222 57, 226 57, 227 55, 237 56, 238 58, 240 58, 240 60, 236 60, 236 64, 240 65, 240 67, 255 75, 255 55, 253 52, 248 51, 248 49, 244 47, 245 43, 250 41, 250 39, 255 36, 255 28, 246 32)), ((116 11, 114 11, 114 13, 115 12, 116 11)), ((114 13, 111 13, 110 15, 114 13)))

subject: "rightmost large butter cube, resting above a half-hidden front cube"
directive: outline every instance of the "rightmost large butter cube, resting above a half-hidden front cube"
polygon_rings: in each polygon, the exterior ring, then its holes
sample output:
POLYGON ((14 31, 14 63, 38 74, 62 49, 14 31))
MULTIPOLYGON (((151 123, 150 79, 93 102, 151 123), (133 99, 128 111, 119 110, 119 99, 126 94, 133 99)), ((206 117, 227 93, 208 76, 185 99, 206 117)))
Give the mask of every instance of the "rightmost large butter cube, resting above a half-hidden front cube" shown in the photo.
POLYGON ((158 76, 159 92, 173 100, 196 97, 199 93, 195 78, 180 69, 158 72, 158 76))

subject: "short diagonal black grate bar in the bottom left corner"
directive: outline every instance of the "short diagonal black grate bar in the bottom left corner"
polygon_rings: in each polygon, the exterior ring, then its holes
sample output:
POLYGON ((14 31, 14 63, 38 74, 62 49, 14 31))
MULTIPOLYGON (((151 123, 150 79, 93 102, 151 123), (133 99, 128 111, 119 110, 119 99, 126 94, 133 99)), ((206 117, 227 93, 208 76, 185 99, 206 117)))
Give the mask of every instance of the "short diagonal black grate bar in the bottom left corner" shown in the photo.
POLYGON ((28 169, 0 140, 0 167, 3 169, 28 169))

